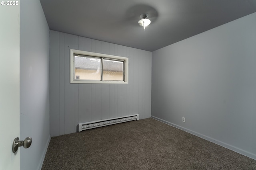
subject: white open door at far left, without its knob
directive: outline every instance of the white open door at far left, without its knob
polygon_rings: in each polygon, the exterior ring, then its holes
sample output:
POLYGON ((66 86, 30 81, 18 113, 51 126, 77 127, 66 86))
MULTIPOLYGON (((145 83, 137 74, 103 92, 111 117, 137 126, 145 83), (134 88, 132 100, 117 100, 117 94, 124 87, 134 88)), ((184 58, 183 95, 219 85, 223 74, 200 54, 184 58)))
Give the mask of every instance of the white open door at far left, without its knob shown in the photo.
POLYGON ((20 170, 20 1, 0 5, 0 170, 20 170))

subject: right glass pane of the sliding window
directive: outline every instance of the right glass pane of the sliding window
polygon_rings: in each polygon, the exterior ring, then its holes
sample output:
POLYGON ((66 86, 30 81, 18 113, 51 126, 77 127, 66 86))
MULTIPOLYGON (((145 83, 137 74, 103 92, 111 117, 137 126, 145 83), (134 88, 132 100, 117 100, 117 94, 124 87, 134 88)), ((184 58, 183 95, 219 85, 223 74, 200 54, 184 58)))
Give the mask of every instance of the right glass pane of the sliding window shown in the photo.
POLYGON ((124 61, 103 59, 103 80, 124 81, 124 61))

